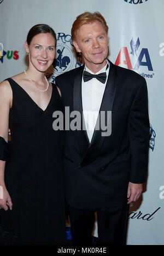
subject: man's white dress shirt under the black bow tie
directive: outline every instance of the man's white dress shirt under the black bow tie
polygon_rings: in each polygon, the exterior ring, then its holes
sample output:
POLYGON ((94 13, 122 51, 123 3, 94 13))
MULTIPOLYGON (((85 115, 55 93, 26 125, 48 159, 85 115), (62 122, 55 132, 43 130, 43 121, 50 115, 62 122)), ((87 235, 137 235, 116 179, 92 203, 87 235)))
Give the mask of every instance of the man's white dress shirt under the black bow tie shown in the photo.
MULTIPOLYGON (((109 64, 107 60, 107 64, 109 64)), ((101 70, 99 70, 95 75, 99 73, 106 72, 107 74, 107 79, 108 79, 108 74, 109 74, 109 67, 106 70, 107 65, 104 66, 101 70)), ((87 72, 92 73, 86 65, 84 70, 87 72)), ((107 84, 107 79, 105 84, 102 82, 98 81, 96 78, 92 78, 91 80, 84 82, 82 79, 81 82, 81 94, 82 94, 82 104, 83 104, 83 115, 84 115, 84 121, 85 121, 85 127, 87 131, 87 136, 89 138, 89 141, 91 142, 93 132, 95 129, 99 109, 101 107, 101 102, 104 94, 104 90, 106 88, 107 84)))

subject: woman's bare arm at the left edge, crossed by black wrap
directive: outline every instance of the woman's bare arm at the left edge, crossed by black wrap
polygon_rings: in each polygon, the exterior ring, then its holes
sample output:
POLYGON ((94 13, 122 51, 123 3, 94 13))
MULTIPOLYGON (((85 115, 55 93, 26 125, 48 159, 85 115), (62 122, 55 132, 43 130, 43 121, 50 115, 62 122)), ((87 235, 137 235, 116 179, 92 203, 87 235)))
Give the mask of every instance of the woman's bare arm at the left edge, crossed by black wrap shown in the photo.
MULTIPOLYGON (((12 90, 8 81, 0 83, 0 136, 8 142, 9 110, 12 104, 12 90)), ((4 210, 12 209, 12 202, 4 183, 5 160, 0 159, 0 207, 4 210), (7 206, 8 205, 8 206, 7 206)))

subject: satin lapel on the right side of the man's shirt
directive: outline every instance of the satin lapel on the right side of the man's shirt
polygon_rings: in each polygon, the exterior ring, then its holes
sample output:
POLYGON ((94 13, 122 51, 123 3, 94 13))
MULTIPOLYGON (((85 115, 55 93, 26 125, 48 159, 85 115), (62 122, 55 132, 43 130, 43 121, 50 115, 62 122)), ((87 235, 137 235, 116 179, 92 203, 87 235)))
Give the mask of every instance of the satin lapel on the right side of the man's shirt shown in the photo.
MULTIPOLYGON (((115 90, 116 90, 116 80, 117 80, 116 67, 115 65, 113 65, 113 63, 110 62, 108 80, 106 84, 106 89, 103 94, 102 104, 99 109, 99 114, 101 113, 101 111, 106 111, 106 113, 107 111, 112 111, 115 90)), ((98 153, 101 151, 104 138, 105 136, 102 136, 102 130, 95 130, 93 132, 91 143, 80 164, 80 167, 91 163, 97 157, 98 153)))

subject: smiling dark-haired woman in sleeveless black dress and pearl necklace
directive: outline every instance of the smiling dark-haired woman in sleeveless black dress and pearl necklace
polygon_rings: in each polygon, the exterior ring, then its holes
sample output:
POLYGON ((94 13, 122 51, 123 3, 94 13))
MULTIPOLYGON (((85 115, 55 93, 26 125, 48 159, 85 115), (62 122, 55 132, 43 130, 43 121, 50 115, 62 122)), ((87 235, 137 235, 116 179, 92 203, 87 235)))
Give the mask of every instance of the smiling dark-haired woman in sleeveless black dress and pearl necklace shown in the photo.
POLYGON ((33 26, 25 42, 28 69, 0 84, 0 226, 17 244, 66 241, 63 134, 52 128, 52 114, 63 107, 44 76, 55 48, 54 30, 33 26))

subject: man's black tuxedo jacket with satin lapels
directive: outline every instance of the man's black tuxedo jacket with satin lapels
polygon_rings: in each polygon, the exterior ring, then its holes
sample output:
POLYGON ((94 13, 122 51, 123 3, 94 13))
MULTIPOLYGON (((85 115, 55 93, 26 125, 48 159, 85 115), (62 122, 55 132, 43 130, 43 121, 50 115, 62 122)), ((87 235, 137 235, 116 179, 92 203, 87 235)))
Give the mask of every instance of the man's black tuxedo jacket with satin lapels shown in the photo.
MULTIPOLYGON (((81 116, 83 70, 84 65, 56 77, 63 104, 81 116)), ((85 129, 66 131, 65 196, 78 209, 121 205, 127 201, 128 182, 143 183, 147 178, 149 116, 144 77, 110 62, 99 111, 112 111, 110 136, 94 130, 89 142, 85 129)))

